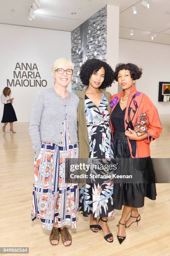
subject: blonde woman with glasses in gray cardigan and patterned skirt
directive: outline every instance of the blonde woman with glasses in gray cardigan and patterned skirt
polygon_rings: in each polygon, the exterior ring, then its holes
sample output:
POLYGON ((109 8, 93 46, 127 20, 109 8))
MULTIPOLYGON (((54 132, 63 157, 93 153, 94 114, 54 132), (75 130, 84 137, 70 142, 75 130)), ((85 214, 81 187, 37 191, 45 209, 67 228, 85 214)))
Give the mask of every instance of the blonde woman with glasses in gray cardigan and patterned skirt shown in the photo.
POLYGON ((51 230, 51 245, 71 246, 67 226, 76 228, 79 186, 66 183, 65 161, 78 158, 77 108, 79 98, 67 91, 73 63, 57 59, 52 67, 54 87, 38 92, 30 114, 30 137, 35 151, 31 220, 40 219, 51 230))

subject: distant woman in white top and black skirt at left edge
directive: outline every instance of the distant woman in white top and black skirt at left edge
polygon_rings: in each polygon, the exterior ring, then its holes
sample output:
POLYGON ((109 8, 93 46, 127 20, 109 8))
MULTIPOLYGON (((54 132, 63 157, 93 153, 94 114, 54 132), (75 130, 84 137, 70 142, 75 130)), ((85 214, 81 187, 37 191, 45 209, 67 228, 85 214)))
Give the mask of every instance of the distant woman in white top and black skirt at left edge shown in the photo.
POLYGON ((0 99, 1 102, 4 104, 3 118, 1 121, 1 123, 4 123, 3 132, 5 133, 5 128, 8 125, 8 123, 10 123, 10 132, 16 133, 13 130, 13 122, 17 121, 17 117, 12 105, 14 98, 11 98, 11 90, 9 87, 5 87, 3 89, 3 94, 1 95, 0 99))

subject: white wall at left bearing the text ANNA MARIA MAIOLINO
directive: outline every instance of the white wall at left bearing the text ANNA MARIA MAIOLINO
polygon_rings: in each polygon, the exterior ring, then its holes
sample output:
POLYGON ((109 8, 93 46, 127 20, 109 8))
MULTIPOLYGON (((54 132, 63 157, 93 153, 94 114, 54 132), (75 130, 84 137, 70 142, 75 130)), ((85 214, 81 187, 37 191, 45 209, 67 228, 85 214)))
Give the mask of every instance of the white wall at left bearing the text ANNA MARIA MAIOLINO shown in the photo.
POLYGON ((53 87, 51 67, 61 57, 71 59, 70 32, 0 24, 0 94, 8 83, 18 122, 29 122, 36 93, 53 87))

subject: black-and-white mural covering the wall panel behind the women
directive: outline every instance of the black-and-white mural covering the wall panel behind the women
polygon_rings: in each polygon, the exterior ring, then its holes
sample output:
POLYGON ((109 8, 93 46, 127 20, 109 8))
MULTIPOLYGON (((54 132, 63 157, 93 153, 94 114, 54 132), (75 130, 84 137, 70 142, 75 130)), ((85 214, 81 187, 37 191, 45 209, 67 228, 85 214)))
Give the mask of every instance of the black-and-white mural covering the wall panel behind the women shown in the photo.
POLYGON ((79 74, 88 59, 107 60, 107 6, 71 32, 71 60, 74 64, 72 91, 84 90, 79 74))

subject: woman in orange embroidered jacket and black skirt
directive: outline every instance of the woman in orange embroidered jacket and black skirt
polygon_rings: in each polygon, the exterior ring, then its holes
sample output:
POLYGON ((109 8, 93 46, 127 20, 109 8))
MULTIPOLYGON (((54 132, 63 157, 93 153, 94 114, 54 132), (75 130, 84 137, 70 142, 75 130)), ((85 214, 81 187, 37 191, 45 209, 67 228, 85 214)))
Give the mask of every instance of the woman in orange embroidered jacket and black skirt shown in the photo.
POLYGON ((150 142, 159 137, 162 127, 155 105, 135 88, 141 75, 142 69, 134 64, 118 64, 115 80, 122 92, 113 95, 110 101, 114 159, 120 166, 116 174, 132 175, 131 180, 114 180, 114 208, 121 210, 124 205, 117 233, 120 244, 126 238, 125 228, 140 221, 138 207, 144 206, 145 197, 156 199, 150 142))

